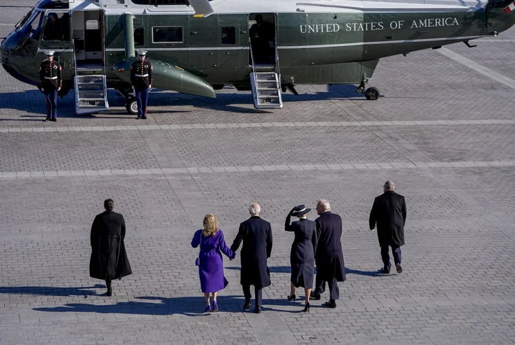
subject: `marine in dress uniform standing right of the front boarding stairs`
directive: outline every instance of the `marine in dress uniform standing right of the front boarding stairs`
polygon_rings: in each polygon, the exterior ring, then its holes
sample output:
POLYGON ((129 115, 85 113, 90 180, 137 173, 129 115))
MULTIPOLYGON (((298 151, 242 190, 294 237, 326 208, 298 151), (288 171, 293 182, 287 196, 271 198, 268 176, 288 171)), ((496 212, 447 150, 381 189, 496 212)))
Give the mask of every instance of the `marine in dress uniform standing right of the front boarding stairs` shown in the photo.
POLYGON ((145 60, 146 52, 138 52, 139 60, 130 66, 130 82, 136 94, 138 104, 138 119, 147 118, 148 92, 152 88, 152 64, 145 60))

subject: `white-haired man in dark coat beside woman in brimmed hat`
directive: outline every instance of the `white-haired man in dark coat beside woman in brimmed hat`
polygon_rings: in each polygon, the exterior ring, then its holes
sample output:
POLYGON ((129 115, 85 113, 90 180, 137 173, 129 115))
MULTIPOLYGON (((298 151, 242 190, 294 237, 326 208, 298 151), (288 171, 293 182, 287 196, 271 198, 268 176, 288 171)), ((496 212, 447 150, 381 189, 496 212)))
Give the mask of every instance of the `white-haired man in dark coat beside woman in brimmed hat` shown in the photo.
POLYGON ((319 300, 321 293, 325 291, 325 282, 329 285, 329 302, 326 307, 336 308, 336 300, 340 298, 340 290, 337 282, 345 281, 345 263, 341 249, 341 217, 331 213, 331 206, 327 200, 317 202, 317 252, 314 254, 314 262, 317 264, 317 280, 312 298, 319 300))

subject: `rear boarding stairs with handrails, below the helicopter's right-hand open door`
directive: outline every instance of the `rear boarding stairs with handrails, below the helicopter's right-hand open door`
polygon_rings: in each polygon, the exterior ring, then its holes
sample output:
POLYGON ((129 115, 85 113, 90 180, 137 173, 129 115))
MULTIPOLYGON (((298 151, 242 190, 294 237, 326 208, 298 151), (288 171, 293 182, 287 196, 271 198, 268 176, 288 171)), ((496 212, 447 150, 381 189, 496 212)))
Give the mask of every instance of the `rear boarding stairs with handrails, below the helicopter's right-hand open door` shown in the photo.
POLYGON ((277 39, 275 40, 275 65, 256 65, 251 49, 252 73, 250 74, 252 96, 255 109, 281 109, 282 87, 281 72, 279 69, 279 55, 277 54, 277 39))

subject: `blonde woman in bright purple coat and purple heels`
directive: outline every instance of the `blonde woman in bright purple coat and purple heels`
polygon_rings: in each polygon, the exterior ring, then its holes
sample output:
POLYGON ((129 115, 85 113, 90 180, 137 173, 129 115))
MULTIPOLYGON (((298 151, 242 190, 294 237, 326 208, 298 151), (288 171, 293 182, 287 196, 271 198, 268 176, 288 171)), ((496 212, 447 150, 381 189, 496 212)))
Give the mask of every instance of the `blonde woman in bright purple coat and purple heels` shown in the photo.
POLYGON ((209 293, 213 294, 213 311, 218 311, 216 293, 229 284, 224 276, 222 253, 231 259, 236 254, 225 244, 224 233, 218 229, 218 219, 214 214, 206 214, 204 229, 195 232, 192 247, 196 248, 198 245, 201 245, 201 252, 198 254, 196 265, 206 303, 205 312, 211 311, 209 293))

